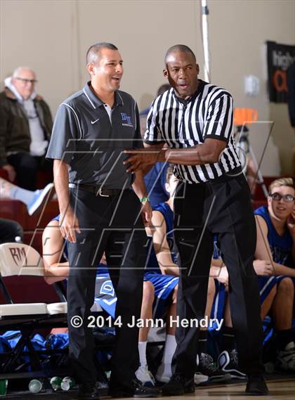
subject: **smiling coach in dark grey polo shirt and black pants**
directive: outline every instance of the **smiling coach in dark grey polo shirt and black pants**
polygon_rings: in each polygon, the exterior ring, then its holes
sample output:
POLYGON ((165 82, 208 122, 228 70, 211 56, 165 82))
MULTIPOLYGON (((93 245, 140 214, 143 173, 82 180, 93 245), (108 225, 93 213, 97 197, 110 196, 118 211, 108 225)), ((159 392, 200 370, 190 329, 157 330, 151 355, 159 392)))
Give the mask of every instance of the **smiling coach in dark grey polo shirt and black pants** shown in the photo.
POLYGON ((140 317, 142 300, 146 236, 140 212, 147 220, 151 216, 142 173, 134 176, 123 165, 124 148, 143 147, 138 108, 128 93, 118 90, 123 62, 116 46, 95 44, 86 61, 91 82, 58 108, 47 153, 54 159, 60 230, 69 242, 70 358, 80 382, 79 399, 98 399, 94 342, 87 325, 96 266, 105 251, 119 317, 110 394, 157 396, 157 389, 136 380, 138 329, 127 326, 133 316, 140 317))

